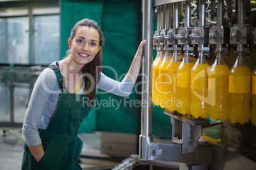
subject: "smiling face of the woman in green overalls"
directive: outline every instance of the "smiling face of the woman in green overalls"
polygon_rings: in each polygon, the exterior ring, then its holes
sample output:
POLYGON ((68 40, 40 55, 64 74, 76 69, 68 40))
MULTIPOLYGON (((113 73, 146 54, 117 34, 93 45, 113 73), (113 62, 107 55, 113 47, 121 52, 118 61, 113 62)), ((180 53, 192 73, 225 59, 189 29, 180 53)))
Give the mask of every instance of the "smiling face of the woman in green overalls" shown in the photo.
POLYGON ((71 58, 76 64, 85 65, 91 62, 101 46, 99 46, 99 33, 93 27, 80 26, 73 37, 68 39, 71 49, 71 58))

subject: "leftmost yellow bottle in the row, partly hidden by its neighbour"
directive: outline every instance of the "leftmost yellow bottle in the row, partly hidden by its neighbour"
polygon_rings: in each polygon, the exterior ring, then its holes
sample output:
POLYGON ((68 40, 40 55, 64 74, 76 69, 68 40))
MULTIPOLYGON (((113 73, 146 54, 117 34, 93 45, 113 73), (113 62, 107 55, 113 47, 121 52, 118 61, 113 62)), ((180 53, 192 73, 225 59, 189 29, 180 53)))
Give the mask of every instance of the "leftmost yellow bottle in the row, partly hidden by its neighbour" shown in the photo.
POLYGON ((159 105, 159 87, 158 87, 158 79, 159 79, 159 66, 162 63, 162 51, 159 52, 159 60, 155 62, 153 65, 153 103, 155 105, 159 105))

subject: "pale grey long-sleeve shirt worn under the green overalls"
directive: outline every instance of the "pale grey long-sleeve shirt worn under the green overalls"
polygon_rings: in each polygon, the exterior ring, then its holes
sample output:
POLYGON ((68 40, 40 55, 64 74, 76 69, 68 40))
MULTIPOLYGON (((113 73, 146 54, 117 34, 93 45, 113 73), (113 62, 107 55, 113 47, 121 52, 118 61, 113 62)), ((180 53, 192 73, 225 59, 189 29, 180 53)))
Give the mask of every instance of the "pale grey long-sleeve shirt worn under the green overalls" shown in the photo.
MULTIPOLYGON (((53 64, 55 65, 56 62, 53 64)), ((77 94, 83 94, 84 86, 85 84, 83 82, 82 88, 77 94)), ((104 75, 102 72, 99 83, 97 84, 97 88, 118 96, 129 96, 133 86, 134 82, 130 81, 126 76, 122 82, 118 82, 104 75)), ((54 71, 48 68, 43 70, 34 84, 22 127, 28 146, 41 144, 38 128, 46 129, 53 119, 60 92, 54 71)))

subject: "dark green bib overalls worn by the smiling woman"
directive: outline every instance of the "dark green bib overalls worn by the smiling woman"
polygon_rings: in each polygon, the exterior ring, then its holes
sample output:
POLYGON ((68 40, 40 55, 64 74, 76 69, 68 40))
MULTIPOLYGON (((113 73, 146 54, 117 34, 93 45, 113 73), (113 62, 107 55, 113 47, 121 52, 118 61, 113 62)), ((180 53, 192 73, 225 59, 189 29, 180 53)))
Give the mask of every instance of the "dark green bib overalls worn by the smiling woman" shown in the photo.
POLYGON ((61 93, 57 103, 57 110, 49 126, 38 129, 45 154, 36 162, 25 143, 22 169, 82 169, 76 162, 82 150, 82 140, 78 138, 80 122, 87 117, 91 107, 87 105, 86 95, 68 93, 64 78, 57 66, 50 65, 57 76, 61 93))

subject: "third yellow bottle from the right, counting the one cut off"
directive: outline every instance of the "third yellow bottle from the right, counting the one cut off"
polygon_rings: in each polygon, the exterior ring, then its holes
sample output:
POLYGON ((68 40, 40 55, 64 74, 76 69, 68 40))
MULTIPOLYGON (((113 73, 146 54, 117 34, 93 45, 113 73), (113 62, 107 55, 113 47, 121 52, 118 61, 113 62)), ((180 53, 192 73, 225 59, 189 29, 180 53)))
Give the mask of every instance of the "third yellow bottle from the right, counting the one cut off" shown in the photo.
POLYGON ((208 72, 209 116, 213 121, 229 119, 229 71, 224 53, 218 51, 208 72))

